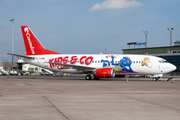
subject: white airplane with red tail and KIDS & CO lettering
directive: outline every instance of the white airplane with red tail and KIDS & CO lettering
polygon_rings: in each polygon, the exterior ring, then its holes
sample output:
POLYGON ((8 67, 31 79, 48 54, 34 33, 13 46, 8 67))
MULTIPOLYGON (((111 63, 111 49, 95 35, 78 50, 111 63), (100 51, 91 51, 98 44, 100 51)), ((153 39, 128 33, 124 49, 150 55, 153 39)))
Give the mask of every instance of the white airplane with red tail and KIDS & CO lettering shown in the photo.
MULTIPOLYGON (((56 72, 87 74, 85 79, 113 78, 125 75, 159 75, 176 69, 165 59, 130 54, 60 54, 45 49, 28 26, 21 26, 25 62, 56 72)), ((157 79, 157 78, 154 78, 157 79)))

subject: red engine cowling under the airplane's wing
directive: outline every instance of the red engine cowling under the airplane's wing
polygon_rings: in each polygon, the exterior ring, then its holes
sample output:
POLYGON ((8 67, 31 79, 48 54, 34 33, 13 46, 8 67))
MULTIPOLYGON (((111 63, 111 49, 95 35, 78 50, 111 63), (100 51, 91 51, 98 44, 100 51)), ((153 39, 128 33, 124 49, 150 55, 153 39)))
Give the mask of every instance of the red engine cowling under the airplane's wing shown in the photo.
POLYGON ((113 78, 115 76, 115 72, 112 68, 99 68, 96 69, 94 74, 96 78, 113 78))

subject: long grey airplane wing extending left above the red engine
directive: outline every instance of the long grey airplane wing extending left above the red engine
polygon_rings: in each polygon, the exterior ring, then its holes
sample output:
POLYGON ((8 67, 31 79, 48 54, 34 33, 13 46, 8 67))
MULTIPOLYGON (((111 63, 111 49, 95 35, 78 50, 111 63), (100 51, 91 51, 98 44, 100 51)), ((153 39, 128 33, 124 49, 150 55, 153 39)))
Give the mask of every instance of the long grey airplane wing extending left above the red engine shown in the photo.
POLYGON ((63 64, 63 63, 56 63, 56 62, 48 62, 51 64, 57 64, 57 65, 63 65, 64 67, 72 67, 73 69, 78 69, 82 71, 94 71, 96 68, 94 67, 86 67, 86 66, 80 66, 80 65, 71 65, 71 64, 63 64))

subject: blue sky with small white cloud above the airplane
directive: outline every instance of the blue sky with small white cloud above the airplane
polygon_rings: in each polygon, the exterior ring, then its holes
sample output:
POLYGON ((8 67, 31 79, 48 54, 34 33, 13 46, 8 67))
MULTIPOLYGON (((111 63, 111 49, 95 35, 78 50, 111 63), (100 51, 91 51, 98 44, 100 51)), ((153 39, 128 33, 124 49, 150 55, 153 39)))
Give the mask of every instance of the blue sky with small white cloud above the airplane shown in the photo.
MULTIPOLYGON (((148 47, 180 40, 180 0, 0 0, 0 61, 25 55, 21 26, 27 25, 46 49, 62 54, 121 54, 128 42, 148 47)), ((142 46, 143 47, 143 46, 142 46)))

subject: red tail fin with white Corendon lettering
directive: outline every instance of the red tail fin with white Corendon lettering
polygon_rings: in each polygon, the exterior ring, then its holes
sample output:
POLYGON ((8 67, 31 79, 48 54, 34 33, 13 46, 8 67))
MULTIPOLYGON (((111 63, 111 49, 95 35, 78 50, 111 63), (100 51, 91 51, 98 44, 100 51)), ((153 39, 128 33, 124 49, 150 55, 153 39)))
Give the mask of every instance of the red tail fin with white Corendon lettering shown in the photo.
POLYGON ((28 26, 21 26, 22 36, 26 48, 26 55, 46 55, 46 54, 60 54, 45 49, 38 41, 36 36, 31 32, 28 26))

